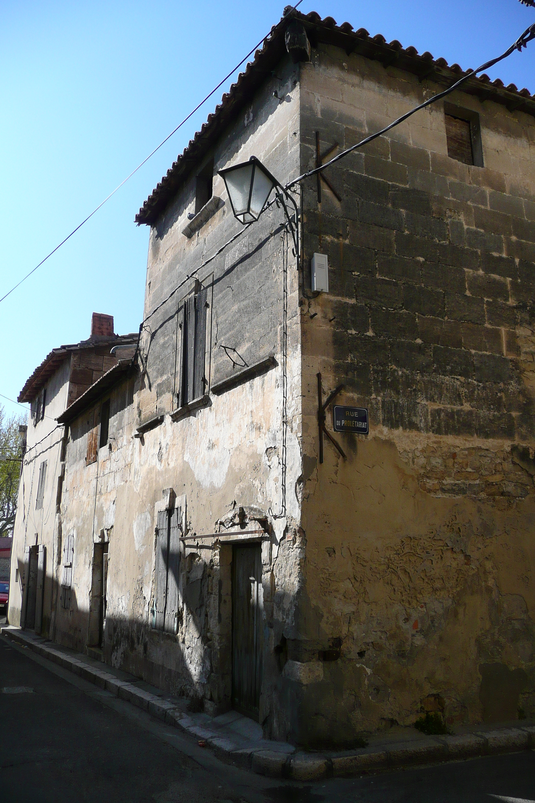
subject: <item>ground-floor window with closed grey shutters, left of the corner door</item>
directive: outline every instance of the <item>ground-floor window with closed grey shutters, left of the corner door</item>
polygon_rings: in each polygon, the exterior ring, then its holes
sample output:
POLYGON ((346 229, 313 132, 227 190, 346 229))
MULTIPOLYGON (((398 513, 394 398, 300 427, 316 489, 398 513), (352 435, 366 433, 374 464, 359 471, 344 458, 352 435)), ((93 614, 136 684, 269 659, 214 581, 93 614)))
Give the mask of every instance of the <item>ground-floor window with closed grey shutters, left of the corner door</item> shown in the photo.
POLYGON ((179 613, 180 507, 158 513, 152 627, 176 633, 179 613))

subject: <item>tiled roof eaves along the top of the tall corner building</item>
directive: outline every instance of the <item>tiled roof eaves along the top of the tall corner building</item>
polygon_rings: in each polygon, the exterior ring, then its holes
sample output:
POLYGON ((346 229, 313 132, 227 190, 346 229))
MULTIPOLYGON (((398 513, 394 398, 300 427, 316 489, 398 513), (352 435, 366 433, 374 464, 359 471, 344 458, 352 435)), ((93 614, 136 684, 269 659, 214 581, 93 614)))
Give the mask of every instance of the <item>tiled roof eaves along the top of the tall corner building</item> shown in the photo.
MULTIPOLYGON (((383 35, 377 34, 372 37, 365 28, 354 31, 350 22, 343 22, 338 26, 332 17, 322 19, 315 11, 310 11, 310 14, 293 11, 271 29, 261 50, 254 54, 253 61, 249 62, 245 71, 238 75, 236 83, 232 84, 229 92, 222 96, 221 104, 216 106, 213 114, 209 114, 201 130, 189 141, 184 152, 176 157, 176 161, 152 190, 136 214, 135 222, 138 226, 152 225, 156 222, 179 190, 193 164, 201 160, 217 140, 221 129, 231 120, 238 108, 247 102, 260 81, 266 75, 270 75, 274 63, 286 53, 283 34, 290 18, 303 23, 310 43, 314 47, 317 47, 318 43, 334 44, 342 47, 347 55, 357 53, 368 59, 380 61, 385 67, 399 67, 417 75, 419 80, 432 78, 439 84, 447 85, 472 72, 472 70, 463 71, 458 64, 450 66, 446 59, 434 59, 428 51, 419 55, 415 47, 403 48, 397 39, 387 43, 383 35)), ((491 81, 488 75, 479 77, 474 75, 467 80, 461 91, 479 96, 481 100, 494 100, 504 104, 509 112, 520 110, 535 116, 535 96, 532 96, 528 89, 519 90, 515 84, 505 87, 499 78, 491 81)))

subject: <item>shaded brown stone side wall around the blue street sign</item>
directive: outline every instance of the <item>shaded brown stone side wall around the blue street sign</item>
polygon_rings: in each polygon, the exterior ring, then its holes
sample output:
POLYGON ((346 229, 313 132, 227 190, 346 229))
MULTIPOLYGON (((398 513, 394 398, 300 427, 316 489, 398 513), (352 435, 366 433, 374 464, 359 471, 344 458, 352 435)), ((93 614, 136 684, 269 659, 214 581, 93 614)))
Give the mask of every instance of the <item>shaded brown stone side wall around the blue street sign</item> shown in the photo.
MULTIPOLYGON (((320 47, 302 66, 302 169, 438 91, 320 47)), ((478 112, 484 168, 418 112, 304 189, 302 627, 288 645, 294 738, 535 712, 535 120, 478 112), (330 292, 310 291, 310 257, 330 292), (370 435, 325 441, 318 393, 366 406, 370 435), (290 649, 291 648, 291 649, 290 649), (291 654, 290 654, 291 652, 291 654)), ((336 153, 336 151, 334 152, 336 153)), ((332 430, 332 423, 327 421, 332 430)), ((285 670, 286 671, 286 670, 285 670)))

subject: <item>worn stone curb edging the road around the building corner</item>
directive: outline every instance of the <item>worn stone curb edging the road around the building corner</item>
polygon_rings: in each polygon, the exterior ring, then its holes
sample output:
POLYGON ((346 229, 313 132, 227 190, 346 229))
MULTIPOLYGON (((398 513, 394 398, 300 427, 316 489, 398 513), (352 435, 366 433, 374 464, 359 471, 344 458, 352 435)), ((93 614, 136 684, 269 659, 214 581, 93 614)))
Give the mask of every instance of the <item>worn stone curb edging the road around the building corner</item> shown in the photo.
POLYGON ((388 748, 361 748, 354 753, 332 756, 320 753, 282 752, 239 748, 231 738, 201 726, 180 711, 170 700, 162 699, 116 675, 66 655, 43 641, 33 641, 10 627, 0 628, 0 634, 25 646, 42 658, 63 666, 84 680, 106 689, 168 725, 209 744, 215 754, 233 764, 271 778, 290 778, 293 781, 319 781, 326 777, 353 777, 369 772, 411 767, 416 764, 437 764, 444 761, 492 756, 497 753, 535 749, 535 726, 501 728, 496 731, 476 731, 457 736, 435 736, 416 744, 392 744, 388 748))

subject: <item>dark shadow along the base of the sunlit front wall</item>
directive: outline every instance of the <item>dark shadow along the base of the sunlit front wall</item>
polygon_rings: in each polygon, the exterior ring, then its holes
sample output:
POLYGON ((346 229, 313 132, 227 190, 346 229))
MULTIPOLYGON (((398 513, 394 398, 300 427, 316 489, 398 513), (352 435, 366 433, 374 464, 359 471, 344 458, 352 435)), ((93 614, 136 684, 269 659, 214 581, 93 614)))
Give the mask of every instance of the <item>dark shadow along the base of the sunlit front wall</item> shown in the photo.
MULTIPOLYGON (((101 655, 111 666, 131 672, 173 695, 193 699, 199 709, 203 707, 203 699, 206 711, 215 713, 227 709, 229 688, 213 689, 214 684, 210 683, 211 650, 206 633, 209 581, 205 564, 192 555, 181 561, 185 576, 181 578, 185 581, 184 605, 177 619, 178 633, 173 634, 152 627, 150 611, 149 622, 107 613, 106 561, 103 560, 107 543, 99 542, 94 547, 91 592, 86 599, 79 597, 79 590, 77 595, 74 583, 71 587, 59 585, 53 578, 46 577, 46 599, 51 601, 48 610, 43 610, 43 583, 38 583, 37 561, 34 560, 38 548, 30 548, 29 563, 18 561, 19 577, 24 578, 23 629, 51 638, 72 650, 82 653, 91 650, 93 657, 101 655), (184 624, 190 625, 189 638, 184 634, 184 624)), ((180 560, 174 565, 180 566, 180 560)), ((175 580, 180 582, 180 573, 178 575, 175 580)))

